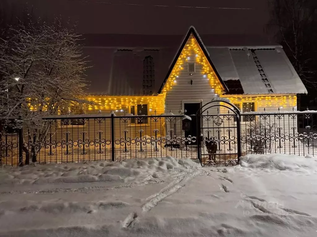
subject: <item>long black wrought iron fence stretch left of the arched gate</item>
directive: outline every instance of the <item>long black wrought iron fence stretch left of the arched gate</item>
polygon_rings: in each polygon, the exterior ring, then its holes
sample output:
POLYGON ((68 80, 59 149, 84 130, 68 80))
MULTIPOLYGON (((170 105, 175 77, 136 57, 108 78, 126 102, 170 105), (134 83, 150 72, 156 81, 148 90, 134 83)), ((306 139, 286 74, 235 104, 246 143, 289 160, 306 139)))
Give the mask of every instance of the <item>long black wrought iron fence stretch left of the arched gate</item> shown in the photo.
POLYGON ((185 137, 182 118, 66 115, 43 118, 40 128, 33 131, 12 131, 14 120, 2 121, 0 165, 162 156, 197 159, 196 137, 185 137))

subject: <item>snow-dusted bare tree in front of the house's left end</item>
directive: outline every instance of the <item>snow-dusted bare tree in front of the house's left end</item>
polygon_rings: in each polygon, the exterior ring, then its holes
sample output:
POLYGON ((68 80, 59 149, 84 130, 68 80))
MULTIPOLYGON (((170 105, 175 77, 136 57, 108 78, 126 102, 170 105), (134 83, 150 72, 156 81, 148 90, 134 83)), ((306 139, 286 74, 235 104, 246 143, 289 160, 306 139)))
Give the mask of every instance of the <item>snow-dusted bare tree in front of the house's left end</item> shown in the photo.
MULTIPOLYGON (((25 143, 45 141, 49 124, 43 116, 86 102, 85 58, 78 40, 74 27, 64 27, 58 20, 52 24, 29 20, 10 27, 7 37, 0 39, 0 113, 3 118, 17 118, 16 126, 27 131, 25 143)), ((28 163, 28 146, 23 149, 28 163)), ((31 146, 33 157, 39 149, 31 146)))

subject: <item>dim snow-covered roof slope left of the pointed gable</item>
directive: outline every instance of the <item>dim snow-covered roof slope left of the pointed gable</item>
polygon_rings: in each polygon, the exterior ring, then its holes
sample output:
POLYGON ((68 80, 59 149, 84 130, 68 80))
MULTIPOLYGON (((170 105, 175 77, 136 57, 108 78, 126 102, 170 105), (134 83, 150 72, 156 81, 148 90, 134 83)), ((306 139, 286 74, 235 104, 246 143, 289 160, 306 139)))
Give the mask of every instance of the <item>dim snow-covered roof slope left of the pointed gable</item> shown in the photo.
POLYGON ((169 70, 175 50, 173 47, 153 47, 129 50, 118 48, 84 48, 89 55, 86 70, 87 92, 96 95, 143 95, 143 60, 151 56, 154 62, 152 91, 157 93, 169 70))

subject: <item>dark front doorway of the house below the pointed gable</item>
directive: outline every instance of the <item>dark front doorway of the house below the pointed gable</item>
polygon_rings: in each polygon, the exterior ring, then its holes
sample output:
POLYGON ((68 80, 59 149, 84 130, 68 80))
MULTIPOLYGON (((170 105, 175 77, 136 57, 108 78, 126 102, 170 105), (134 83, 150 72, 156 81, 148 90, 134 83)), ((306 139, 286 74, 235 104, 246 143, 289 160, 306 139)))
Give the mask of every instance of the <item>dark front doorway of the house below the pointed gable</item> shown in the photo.
MULTIPOLYGON (((200 109, 200 103, 184 103, 184 113, 191 117, 191 129, 185 131, 185 137, 196 137, 195 142, 186 142, 187 145, 197 145, 197 116, 196 113, 200 109)), ((198 121, 198 127, 200 127, 200 121, 198 121)))

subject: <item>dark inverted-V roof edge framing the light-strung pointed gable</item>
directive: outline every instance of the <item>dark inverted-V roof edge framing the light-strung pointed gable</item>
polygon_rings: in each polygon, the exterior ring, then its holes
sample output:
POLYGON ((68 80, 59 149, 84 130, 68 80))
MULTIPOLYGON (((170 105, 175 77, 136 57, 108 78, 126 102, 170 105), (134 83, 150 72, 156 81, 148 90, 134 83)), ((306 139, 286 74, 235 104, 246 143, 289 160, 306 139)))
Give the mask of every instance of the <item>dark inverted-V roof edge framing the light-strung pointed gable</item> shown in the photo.
POLYGON ((200 36, 198 35, 197 31, 195 30, 194 27, 190 27, 188 30, 188 33, 186 34, 183 43, 181 44, 181 46, 179 47, 179 50, 170 66, 170 69, 167 72, 167 75, 159 89, 159 94, 163 92, 163 89, 165 87, 166 82, 168 81, 169 77, 171 76, 171 73, 173 72, 173 69, 176 65, 176 63, 178 62, 178 59, 180 58, 184 47, 186 46, 187 41, 189 40, 189 38, 191 37, 191 35, 193 35, 194 39, 196 40, 198 46, 200 47, 201 51, 203 52, 203 56, 204 58, 207 60, 209 66, 211 67, 211 70, 214 72, 214 76, 216 77, 215 80, 217 81, 217 84, 221 87, 221 89, 226 93, 228 92, 228 88, 226 86, 226 84, 223 82, 223 80, 221 79, 219 73, 217 72, 216 67, 214 66, 214 64, 211 62, 210 57, 209 57, 209 53, 206 49, 206 47, 204 46, 200 36))

